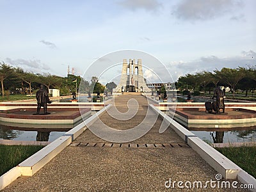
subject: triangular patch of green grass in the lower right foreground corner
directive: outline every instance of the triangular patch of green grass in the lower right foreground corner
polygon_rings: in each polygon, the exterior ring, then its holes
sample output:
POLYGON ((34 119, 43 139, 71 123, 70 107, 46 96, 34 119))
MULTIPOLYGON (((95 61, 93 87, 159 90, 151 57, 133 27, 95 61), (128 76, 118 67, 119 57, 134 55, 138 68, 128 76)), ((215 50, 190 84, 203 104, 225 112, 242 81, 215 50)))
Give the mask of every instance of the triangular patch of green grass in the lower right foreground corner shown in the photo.
POLYGON ((215 149, 256 178, 256 145, 215 149))

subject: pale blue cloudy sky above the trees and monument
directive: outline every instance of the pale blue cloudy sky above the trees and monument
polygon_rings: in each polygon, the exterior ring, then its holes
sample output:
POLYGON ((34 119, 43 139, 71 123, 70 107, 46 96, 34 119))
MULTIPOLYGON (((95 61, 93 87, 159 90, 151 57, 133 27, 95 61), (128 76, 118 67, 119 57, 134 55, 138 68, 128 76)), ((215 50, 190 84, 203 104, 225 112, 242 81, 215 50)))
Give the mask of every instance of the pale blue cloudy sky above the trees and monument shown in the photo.
MULTIPOLYGON (((99 58, 122 50, 157 58, 165 67, 152 61, 144 76, 157 70, 166 82, 256 65, 255 0, 0 0, 0 7, 0 61, 28 72, 65 77, 69 65, 83 77, 99 58)), ((92 76, 100 63, 94 68, 92 76)))

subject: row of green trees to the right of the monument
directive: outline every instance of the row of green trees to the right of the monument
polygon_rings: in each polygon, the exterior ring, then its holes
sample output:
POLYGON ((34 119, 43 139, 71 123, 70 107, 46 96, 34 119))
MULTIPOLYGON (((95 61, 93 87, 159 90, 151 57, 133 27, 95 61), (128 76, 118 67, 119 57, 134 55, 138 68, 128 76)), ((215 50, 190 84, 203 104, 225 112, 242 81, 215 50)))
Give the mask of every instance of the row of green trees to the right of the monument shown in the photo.
POLYGON ((256 65, 238 68, 226 68, 213 70, 213 72, 197 72, 196 74, 186 74, 180 76, 175 86, 179 90, 204 91, 211 90, 217 86, 229 87, 233 97, 237 89, 254 92, 256 89, 256 65))

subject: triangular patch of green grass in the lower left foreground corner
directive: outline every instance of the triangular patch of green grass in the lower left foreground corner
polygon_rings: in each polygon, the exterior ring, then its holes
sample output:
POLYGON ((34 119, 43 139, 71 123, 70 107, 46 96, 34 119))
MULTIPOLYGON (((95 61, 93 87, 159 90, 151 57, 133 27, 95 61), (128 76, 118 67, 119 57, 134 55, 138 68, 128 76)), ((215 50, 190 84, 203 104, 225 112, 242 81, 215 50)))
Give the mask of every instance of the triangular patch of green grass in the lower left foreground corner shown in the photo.
POLYGON ((43 148, 42 145, 0 145, 0 175, 43 148))

